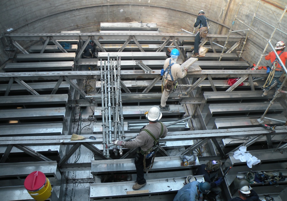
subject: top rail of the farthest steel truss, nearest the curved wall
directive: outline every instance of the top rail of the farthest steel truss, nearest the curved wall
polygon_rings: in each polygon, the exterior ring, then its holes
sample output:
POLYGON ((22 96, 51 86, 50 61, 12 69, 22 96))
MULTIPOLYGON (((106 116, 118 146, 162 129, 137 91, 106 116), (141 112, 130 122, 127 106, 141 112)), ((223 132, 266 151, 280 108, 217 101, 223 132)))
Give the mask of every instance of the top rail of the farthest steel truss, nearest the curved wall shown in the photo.
MULTIPOLYGON (((5 37, 11 37, 13 40, 40 40, 40 38, 47 38, 52 36, 55 40, 87 40, 89 36, 94 36, 94 38, 103 38, 104 40, 127 40, 131 34, 124 33, 39 33, 39 34, 5 34, 5 37)), ((174 33, 174 34, 164 34, 164 33, 133 33, 133 36, 137 40, 166 40, 170 36, 174 38, 179 38, 179 40, 194 40, 196 34, 187 34, 187 33, 174 33)), ((225 41, 228 35, 216 35, 209 34, 212 40, 215 38, 218 41, 225 41)), ((231 35, 228 37, 228 41, 238 41, 245 36, 231 35)))

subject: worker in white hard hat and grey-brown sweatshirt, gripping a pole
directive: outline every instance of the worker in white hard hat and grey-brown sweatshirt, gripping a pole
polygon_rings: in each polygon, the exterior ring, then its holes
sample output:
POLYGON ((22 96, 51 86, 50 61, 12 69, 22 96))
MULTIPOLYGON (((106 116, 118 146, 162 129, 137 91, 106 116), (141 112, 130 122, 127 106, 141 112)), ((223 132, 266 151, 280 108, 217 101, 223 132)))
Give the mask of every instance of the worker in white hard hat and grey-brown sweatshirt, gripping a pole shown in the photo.
POLYGON ((158 106, 152 106, 146 114, 149 124, 141 129, 138 136, 132 141, 115 140, 112 143, 123 146, 124 148, 133 149, 139 147, 135 157, 135 167, 137 170, 137 182, 133 185, 133 190, 137 190, 146 185, 144 171, 150 169, 154 160, 156 149, 158 149, 159 138, 164 138, 167 135, 167 128, 164 123, 159 122, 162 113, 158 106), (153 155, 150 157, 150 155, 153 155), (148 158, 149 157, 149 158, 148 158))

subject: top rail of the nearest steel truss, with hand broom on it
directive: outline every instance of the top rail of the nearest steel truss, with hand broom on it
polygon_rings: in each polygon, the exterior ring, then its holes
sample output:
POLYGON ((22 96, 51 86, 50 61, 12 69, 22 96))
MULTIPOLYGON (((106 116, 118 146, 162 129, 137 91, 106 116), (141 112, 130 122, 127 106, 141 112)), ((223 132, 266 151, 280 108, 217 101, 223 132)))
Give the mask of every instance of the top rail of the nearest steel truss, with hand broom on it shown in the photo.
MULTIPOLYGON (((218 130, 194 130, 194 131, 174 131, 168 132, 168 136, 160 139, 160 142, 176 141, 176 140, 201 140, 204 138, 215 137, 217 139, 222 138, 234 138, 254 136, 261 134, 268 134, 269 131, 263 127, 252 128, 233 128, 233 129, 218 129, 218 130)), ((138 133, 127 133, 125 136, 131 137, 138 133)), ((274 135, 286 134, 284 126, 277 126, 276 133, 274 135)), ((102 144, 102 134, 94 135, 96 140, 91 140, 91 135, 82 135, 86 139, 71 141, 71 135, 69 136, 21 136, 21 137, 0 137, 0 146, 7 146, 9 144, 21 144, 22 146, 37 146, 37 145, 72 145, 79 142, 85 142, 88 144, 102 144)))

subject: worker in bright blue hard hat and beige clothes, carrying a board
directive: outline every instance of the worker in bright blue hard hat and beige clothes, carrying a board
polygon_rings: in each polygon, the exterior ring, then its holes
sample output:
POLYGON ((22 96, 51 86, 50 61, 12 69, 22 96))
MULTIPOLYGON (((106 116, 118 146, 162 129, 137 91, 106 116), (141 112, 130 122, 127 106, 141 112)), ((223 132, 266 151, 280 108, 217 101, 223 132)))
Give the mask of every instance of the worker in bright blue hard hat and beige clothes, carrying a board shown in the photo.
POLYGON ((187 74, 187 68, 182 70, 181 66, 177 63, 177 58, 179 57, 178 49, 172 49, 170 52, 170 58, 164 61, 164 66, 161 72, 163 81, 163 92, 160 99, 160 110, 169 111, 170 108, 166 105, 166 101, 172 88, 174 87, 174 82, 177 78, 184 78, 187 74))

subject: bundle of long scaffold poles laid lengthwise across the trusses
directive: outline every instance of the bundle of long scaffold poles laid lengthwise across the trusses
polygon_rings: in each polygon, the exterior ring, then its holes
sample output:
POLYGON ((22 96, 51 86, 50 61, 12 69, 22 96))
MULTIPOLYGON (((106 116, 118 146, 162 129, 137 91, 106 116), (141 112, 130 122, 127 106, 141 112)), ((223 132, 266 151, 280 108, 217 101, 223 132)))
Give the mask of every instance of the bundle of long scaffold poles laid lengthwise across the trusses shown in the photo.
MULTIPOLYGON (((107 158, 110 156, 106 145, 112 142, 112 115, 113 115, 113 130, 114 140, 122 139, 125 135, 123 122, 123 105, 121 98, 121 58, 117 57, 117 67, 115 59, 108 61, 102 59, 100 61, 101 72, 101 99, 102 99, 102 133, 103 133, 103 155, 107 158), (113 63, 113 65, 111 65, 113 63), (116 73, 117 68, 117 73, 116 73), (121 118, 121 119, 120 119, 121 118)), ((113 151, 117 156, 117 146, 114 146, 113 151)), ((122 147, 119 150, 120 155, 123 155, 122 147)))

